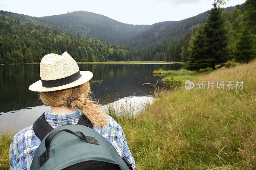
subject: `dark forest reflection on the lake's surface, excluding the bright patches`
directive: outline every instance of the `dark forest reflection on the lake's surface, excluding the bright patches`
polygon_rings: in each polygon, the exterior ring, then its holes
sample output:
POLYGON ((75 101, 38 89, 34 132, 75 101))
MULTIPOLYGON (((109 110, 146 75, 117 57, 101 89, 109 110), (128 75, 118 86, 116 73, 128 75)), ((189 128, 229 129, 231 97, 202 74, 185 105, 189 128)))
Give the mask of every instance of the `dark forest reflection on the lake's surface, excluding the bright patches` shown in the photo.
MULTIPOLYGON (((154 69, 177 70, 180 64, 78 64, 80 70, 93 73, 92 91, 96 100, 104 103, 106 96, 110 101, 125 96, 150 95, 150 91, 143 90, 150 87, 143 83, 156 83, 157 78, 152 75, 154 69)), ((28 86, 40 80, 39 64, 0 65, 0 112, 9 112, 28 107, 42 105, 38 93, 28 90, 28 86)), ((109 100, 108 100, 109 101, 109 100)), ((0 113, 1 114, 1 113, 0 113)), ((1 115, 0 115, 1 118, 1 115)))

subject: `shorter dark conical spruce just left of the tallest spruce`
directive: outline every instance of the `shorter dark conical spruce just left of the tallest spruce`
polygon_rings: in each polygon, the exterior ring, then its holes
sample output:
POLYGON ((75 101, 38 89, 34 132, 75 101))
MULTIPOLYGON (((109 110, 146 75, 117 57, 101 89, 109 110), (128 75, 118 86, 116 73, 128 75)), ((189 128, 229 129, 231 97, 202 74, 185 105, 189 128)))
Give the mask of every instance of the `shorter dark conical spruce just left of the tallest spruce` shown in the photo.
POLYGON ((212 58, 207 54, 207 41, 204 33, 204 25, 200 25, 196 30, 195 36, 191 38, 188 47, 189 57, 187 65, 188 70, 199 70, 211 66, 212 58))

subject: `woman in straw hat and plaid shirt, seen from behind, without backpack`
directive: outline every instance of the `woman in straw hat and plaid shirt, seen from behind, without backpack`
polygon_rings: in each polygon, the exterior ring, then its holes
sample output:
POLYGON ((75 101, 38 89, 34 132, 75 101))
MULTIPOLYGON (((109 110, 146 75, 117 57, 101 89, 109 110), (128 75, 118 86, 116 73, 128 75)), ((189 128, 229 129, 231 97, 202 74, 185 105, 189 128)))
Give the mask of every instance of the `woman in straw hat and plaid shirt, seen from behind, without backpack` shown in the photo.
MULTIPOLYGON (((92 72, 79 71, 76 61, 67 52, 61 56, 50 53, 41 60, 40 76, 41 80, 28 89, 40 92, 42 102, 51 106, 51 111, 46 111, 44 116, 54 129, 64 124, 76 124, 84 114, 92 122, 92 129, 106 138, 135 169, 121 126, 106 115, 98 103, 90 100, 88 81, 92 72)), ((29 169, 40 143, 32 125, 18 132, 10 145, 10 169, 29 169)))

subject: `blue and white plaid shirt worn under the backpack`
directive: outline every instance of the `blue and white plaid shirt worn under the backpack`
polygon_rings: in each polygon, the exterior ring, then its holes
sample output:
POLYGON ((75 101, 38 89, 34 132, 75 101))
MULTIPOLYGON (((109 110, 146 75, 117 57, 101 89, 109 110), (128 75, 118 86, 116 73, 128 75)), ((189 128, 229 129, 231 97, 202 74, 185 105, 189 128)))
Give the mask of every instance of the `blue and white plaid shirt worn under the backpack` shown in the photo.
MULTIPOLYGON (((64 124, 76 124, 82 117, 82 112, 74 111, 70 114, 52 114, 45 112, 46 121, 55 129, 64 124)), ((135 162, 128 148, 122 127, 110 116, 108 116, 107 126, 93 125, 93 130, 106 138, 115 148, 118 154, 132 164, 135 169, 135 162)), ((33 127, 29 126, 18 132, 12 139, 10 145, 10 169, 28 170, 31 166, 33 156, 41 141, 36 137, 33 127)))

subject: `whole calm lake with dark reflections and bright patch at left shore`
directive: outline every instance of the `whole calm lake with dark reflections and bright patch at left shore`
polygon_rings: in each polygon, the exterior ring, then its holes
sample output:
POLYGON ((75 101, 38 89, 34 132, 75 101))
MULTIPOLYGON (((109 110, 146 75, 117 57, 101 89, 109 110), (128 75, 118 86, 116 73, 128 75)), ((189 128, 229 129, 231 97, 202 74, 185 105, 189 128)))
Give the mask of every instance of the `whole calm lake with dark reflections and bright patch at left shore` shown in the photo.
MULTIPOLYGON (((39 64, 0 65, 0 130, 5 128, 16 131, 31 125, 44 111, 38 93, 28 90, 29 85, 40 80, 39 64), (15 128, 14 128, 15 126, 15 128)), ((93 73, 91 89, 93 99, 100 104, 112 103, 131 96, 150 96, 154 89, 148 89, 159 81, 152 72, 178 70, 178 63, 131 63, 131 64, 78 64, 80 70, 93 73), (145 90, 148 89, 148 90, 145 90)), ((161 86, 161 83, 158 83, 161 86)))

